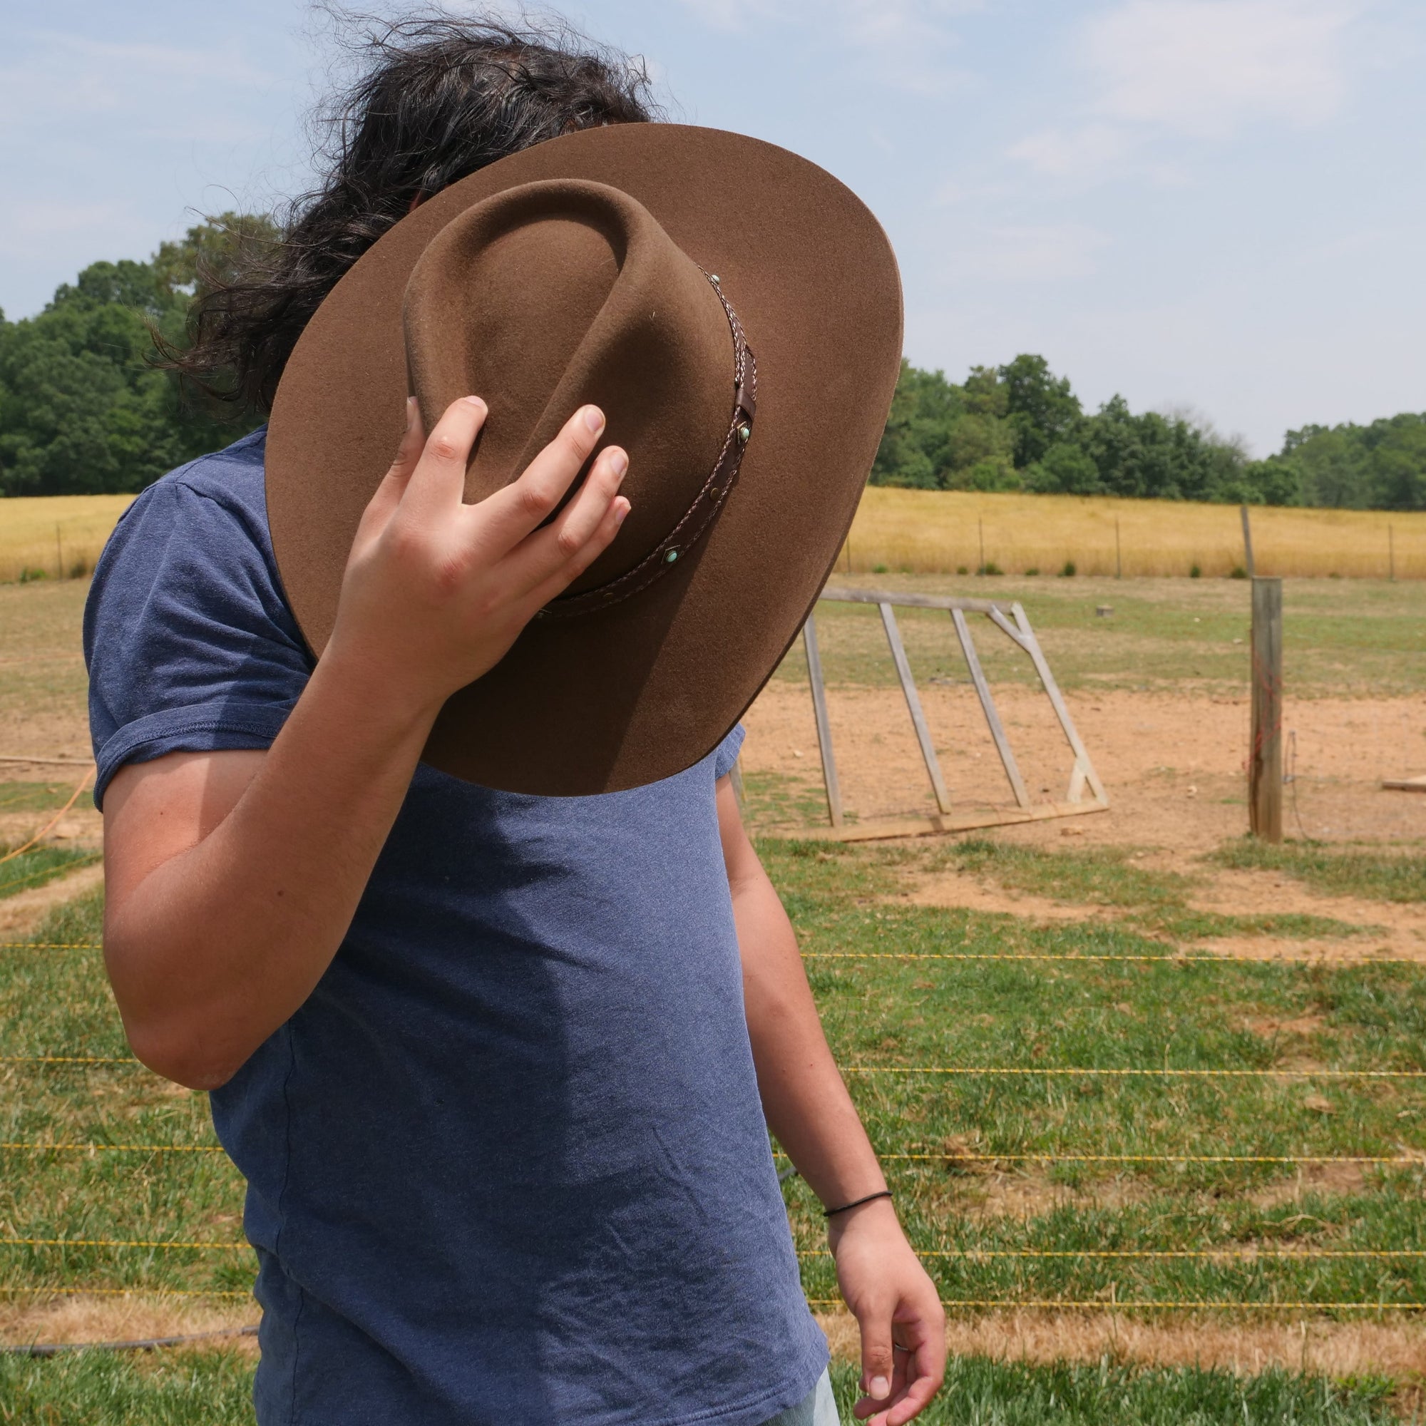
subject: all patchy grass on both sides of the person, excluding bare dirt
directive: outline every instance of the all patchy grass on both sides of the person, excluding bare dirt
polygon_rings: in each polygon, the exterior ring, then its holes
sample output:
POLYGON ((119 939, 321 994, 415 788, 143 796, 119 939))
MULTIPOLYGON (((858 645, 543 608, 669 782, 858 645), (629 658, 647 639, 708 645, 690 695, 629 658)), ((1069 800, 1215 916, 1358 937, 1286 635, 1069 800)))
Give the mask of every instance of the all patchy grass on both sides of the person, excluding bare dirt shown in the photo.
MULTIPOLYGON (((1119 585, 1107 620, 1094 602, 1108 602, 1099 589, 1112 582, 1001 583, 1034 599, 1067 686, 1243 682, 1232 643, 1242 585, 1144 582, 1132 599, 1119 585)), ((1426 660, 1410 586, 1355 583, 1349 602, 1343 589, 1291 586, 1293 686, 1326 697, 1385 680, 1415 699, 1426 660)), ((14 665, 27 682, 4 690, 11 703, 56 717, 78 707, 83 669, 66 650, 81 593, 0 590, 0 657, 30 660, 14 665)), ((834 684, 881 684, 874 615, 823 609, 834 684)), ((904 627, 913 660, 934 657, 931 626, 904 627)), ((987 666, 997 682, 1020 676, 987 666)), ((790 660, 783 679, 797 676, 790 660)), ((71 786, 0 783, 0 816, 43 821, 71 786)), ((759 796, 780 793, 769 781, 759 796)), ((1114 841, 981 834, 760 850, 907 1229, 955 1303, 961 1355, 933 1426, 1420 1419, 1426 964, 1362 957, 1378 944, 1376 915, 1426 901, 1422 846, 1233 837, 1147 861, 1144 847, 1114 841), (947 876, 1062 914, 938 903, 927 891, 947 876), (1205 910, 1199 891, 1219 876, 1259 878, 1261 901, 1205 910), (1285 910, 1285 883, 1355 898, 1352 918, 1340 900, 1285 910), (1310 938, 1352 960, 1201 958, 1205 937, 1265 953, 1310 938), (1115 1072, 1165 1070, 1189 1072, 1115 1072), (1027 1302, 1058 1306, 1027 1313, 1027 1302), (1025 1345, 1037 1320, 1050 1323, 1048 1349, 1025 1345)), ((202 1097, 131 1062, 21 1058, 127 1060, 93 948, 101 894, 61 898, 66 873, 91 856, 74 841, 0 864, 0 913, 36 888, 56 898, 0 948, 10 1342, 68 1320, 46 1316, 60 1312, 47 1291, 128 1291, 116 1303, 144 1305, 145 1320, 175 1330, 200 1312, 202 1325, 255 1319, 241 1182, 212 1152, 202 1097), (78 1147, 46 1148, 61 1144, 78 1147)), ((786 1192, 809 1298, 844 1340, 817 1205, 799 1179, 786 1192)), ((106 1302, 76 1335, 131 1335, 103 1326, 106 1302)), ((251 1369, 244 1349, 0 1358, 0 1423, 237 1423, 251 1419, 251 1369)), ((836 1373, 846 1407, 854 1370, 838 1358, 836 1373)))

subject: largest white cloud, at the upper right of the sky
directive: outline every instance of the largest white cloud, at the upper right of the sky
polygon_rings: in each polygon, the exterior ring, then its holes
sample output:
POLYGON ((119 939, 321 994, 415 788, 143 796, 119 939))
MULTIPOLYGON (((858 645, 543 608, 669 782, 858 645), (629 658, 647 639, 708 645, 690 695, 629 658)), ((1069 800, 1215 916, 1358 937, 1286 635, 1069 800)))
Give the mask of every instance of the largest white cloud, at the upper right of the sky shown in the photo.
POLYGON ((1081 29, 1089 94, 1077 116, 1008 154, 1051 178, 1182 181, 1162 157, 1168 140, 1330 118, 1346 97, 1343 31, 1359 11, 1358 0, 1124 0, 1081 29))

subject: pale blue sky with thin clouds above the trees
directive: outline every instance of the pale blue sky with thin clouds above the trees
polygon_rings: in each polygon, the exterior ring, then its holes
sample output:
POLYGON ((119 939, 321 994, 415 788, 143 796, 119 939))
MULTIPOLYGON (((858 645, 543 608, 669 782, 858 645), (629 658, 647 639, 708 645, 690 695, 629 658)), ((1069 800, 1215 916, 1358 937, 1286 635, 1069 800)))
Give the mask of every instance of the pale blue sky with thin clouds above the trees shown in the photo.
MULTIPOLYGON (((1087 409, 1191 408, 1256 455, 1426 411, 1422 0, 558 9, 642 56, 670 118, 858 193, 920 366, 1040 352, 1087 409)), ((305 116, 344 61, 304 0, 0 0, 0 20, 7 318, 311 180, 305 116)))

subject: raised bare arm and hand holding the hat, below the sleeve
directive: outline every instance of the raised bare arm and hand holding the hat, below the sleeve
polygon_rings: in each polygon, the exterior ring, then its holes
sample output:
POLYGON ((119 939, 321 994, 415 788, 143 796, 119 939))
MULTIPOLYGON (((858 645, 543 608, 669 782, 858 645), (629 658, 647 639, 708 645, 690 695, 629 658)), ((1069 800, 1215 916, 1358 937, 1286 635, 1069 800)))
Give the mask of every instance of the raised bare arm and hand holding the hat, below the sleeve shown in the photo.
POLYGON ((595 406, 512 485, 462 503, 485 421, 456 401, 405 441, 362 516, 337 625, 265 752, 171 753, 104 799, 104 957, 134 1052, 227 1081, 311 994, 351 924, 441 704, 609 545, 627 459, 595 406))

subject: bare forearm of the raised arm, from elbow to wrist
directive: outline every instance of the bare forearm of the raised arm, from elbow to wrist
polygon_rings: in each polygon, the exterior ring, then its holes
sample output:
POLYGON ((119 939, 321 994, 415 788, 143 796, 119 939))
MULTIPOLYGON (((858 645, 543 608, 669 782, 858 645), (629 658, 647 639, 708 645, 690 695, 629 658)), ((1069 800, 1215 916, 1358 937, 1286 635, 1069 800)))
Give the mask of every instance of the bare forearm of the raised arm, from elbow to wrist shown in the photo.
POLYGON ((140 1058, 194 1087, 221 1084, 307 1000, 429 724, 324 660, 227 816, 111 888, 106 957, 140 1058))

